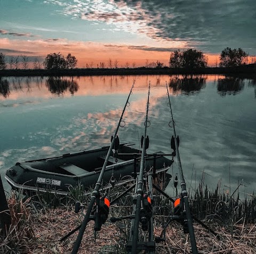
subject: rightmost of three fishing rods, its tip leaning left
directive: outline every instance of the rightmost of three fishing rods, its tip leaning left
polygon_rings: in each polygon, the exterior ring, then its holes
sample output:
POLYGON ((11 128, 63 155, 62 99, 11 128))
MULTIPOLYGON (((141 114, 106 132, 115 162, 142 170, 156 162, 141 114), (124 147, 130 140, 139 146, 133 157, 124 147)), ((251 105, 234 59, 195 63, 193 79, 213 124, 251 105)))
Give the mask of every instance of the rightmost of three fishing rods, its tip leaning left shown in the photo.
MULTIPOLYGON (((176 136, 175 122, 173 120, 172 106, 171 106, 169 90, 168 90, 168 87, 167 87, 167 82, 166 82, 166 89, 167 89, 167 95, 168 95, 168 99, 169 99, 168 104, 169 104, 169 107, 170 107, 171 118, 172 118, 171 122, 172 122, 173 137, 174 137, 174 142, 175 142, 174 149, 175 149, 176 154, 177 154, 179 174, 180 174, 180 179, 181 179, 180 186, 181 186, 181 202, 183 202, 182 209, 183 209, 183 212, 185 212, 185 214, 186 214, 186 222, 185 223, 188 226, 188 233, 189 233, 189 236, 190 236, 190 244, 191 244, 192 253, 193 254, 198 254, 197 246, 196 246, 195 233, 194 233, 194 227, 193 227, 192 217, 191 217, 189 203, 188 203, 188 192, 187 192, 187 189, 186 189, 186 183, 185 183, 185 179, 184 179, 183 171, 182 171, 182 167, 181 167, 180 153, 179 153, 179 140, 177 139, 177 136, 176 136)), ((169 126, 170 126, 170 122, 169 122, 169 126)))

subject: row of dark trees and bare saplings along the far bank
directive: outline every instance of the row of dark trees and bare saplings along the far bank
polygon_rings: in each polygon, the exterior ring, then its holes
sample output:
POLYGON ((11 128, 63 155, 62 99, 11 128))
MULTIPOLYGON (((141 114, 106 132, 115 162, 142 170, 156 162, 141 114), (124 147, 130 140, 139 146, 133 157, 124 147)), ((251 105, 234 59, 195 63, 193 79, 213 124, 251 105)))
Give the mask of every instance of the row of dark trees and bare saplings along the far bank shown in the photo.
MULTIPOLYGON (((29 57, 26 55, 20 56, 6 56, 3 53, 0 53, 0 70, 7 69, 19 69, 21 66, 23 69, 28 69, 29 64, 31 65, 32 61, 29 61, 29 57)), ((239 65, 244 65, 249 62, 249 54, 246 53, 242 48, 234 48, 233 50, 230 47, 222 50, 219 56, 219 67, 236 67, 239 65)), ((206 68, 208 63, 207 56, 203 54, 202 51, 193 50, 189 48, 188 50, 175 50, 170 55, 169 67, 170 68, 183 68, 183 69, 193 69, 193 68, 206 68)), ((251 63, 256 63, 256 56, 251 56, 251 63)), ((54 69, 74 69, 77 65, 77 59, 74 55, 70 53, 65 57, 60 53, 51 53, 47 54, 43 62, 40 62, 37 58, 33 61, 34 69, 43 69, 47 70, 54 69)), ((215 61, 215 67, 218 65, 218 60, 215 61)), ((121 68, 136 68, 136 63, 133 62, 131 65, 127 61, 124 67, 121 65, 121 68)), ((86 68, 93 68, 93 62, 86 63, 86 68)), ((109 67, 110 69, 119 68, 118 60, 113 61, 109 59, 107 63, 100 62, 97 64, 97 68, 105 69, 109 67)), ((163 68, 164 63, 160 61, 149 62, 146 60, 146 68, 163 68)))

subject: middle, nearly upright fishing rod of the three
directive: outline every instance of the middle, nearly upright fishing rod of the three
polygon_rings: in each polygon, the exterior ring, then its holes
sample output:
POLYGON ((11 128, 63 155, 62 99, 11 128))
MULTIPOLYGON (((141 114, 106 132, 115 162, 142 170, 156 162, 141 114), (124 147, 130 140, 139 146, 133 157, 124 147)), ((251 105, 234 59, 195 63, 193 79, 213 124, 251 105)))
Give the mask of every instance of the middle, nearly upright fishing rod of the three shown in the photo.
POLYGON ((146 149, 147 149, 146 146, 148 147, 147 127, 150 125, 150 122, 148 121, 149 95, 150 95, 150 82, 148 87, 148 100, 146 104, 147 111, 146 111, 146 120, 144 122, 144 125, 145 125, 144 136, 142 136, 143 143, 142 143, 142 153, 141 153, 141 161, 140 161, 140 171, 139 171, 139 176, 137 177, 137 186, 135 190, 136 195, 134 195, 136 196, 136 199, 137 199, 137 200, 134 200, 134 202, 136 201, 136 203, 134 203, 133 205, 133 211, 135 210, 135 216, 134 216, 134 219, 132 219, 132 226, 131 226, 131 233, 130 233, 132 254, 137 253, 138 239, 139 239, 139 223, 141 221, 141 209, 143 208, 142 207, 142 201, 144 198, 143 189, 142 189, 143 188, 143 171, 145 168, 145 155, 146 155, 146 149))

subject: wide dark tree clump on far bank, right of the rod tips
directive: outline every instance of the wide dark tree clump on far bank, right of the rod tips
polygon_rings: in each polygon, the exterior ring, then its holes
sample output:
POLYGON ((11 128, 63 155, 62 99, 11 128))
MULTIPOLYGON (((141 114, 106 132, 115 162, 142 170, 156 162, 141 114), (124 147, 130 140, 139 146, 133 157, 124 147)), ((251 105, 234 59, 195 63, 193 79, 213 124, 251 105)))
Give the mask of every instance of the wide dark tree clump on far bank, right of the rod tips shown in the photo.
POLYGON ((189 48, 186 51, 176 50, 170 55, 171 68, 205 68, 207 66, 207 57, 202 51, 189 48))

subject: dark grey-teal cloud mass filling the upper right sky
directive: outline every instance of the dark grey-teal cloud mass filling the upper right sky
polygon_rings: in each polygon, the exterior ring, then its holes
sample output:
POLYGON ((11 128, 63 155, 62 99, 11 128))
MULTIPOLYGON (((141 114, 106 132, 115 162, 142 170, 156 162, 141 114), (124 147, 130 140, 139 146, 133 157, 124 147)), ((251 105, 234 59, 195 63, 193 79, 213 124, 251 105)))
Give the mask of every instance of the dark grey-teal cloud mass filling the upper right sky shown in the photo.
POLYGON ((114 1, 145 13, 148 27, 157 32, 153 38, 186 40, 191 47, 219 52, 224 47, 254 48, 255 1, 114 1))

